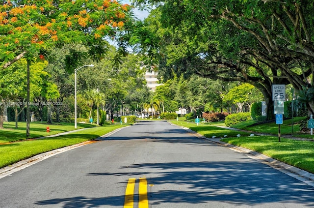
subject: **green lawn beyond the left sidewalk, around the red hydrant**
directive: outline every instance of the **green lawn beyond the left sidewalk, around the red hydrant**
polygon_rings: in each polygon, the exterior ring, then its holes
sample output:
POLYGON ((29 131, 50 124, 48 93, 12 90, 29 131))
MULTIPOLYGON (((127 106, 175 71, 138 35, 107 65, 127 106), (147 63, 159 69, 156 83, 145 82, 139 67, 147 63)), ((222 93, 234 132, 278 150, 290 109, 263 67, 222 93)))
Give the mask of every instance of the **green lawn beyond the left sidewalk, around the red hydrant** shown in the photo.
MULTIPOLYGON (((94 124, 78 123, 78 128, 90 128, 95 127, 94 124)), ((0 144, 7 142, 15 142, 26 139, 26 122, 19 122, 18 129, 15 129, 15 122, 4 122, 4 129, 0 129, 0 144)), ((61 132, 75 130, 74 123, 57 123, 47 124, 41 122, 31 122, 29 125, 29 138, 38 138, 57 134, 61 132), (49 126, 50 132, 46 131, 46 127, 49 126)))

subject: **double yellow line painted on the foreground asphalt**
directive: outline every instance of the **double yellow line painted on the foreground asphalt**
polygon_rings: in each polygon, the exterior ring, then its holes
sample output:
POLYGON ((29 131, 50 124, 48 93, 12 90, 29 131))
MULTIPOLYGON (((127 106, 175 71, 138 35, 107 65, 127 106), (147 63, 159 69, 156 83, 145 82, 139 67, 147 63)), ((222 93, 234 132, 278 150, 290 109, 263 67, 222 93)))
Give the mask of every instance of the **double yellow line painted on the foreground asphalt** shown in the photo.
MULTIPOLYGON (((134 187, 136 178, 129 178, 124 198, 123 208, 133 208, 134 205, 134 187)), ((148 208, 147 198, 147 180, 146 178, 139 178, 138 186, 138 208, 148 208)))

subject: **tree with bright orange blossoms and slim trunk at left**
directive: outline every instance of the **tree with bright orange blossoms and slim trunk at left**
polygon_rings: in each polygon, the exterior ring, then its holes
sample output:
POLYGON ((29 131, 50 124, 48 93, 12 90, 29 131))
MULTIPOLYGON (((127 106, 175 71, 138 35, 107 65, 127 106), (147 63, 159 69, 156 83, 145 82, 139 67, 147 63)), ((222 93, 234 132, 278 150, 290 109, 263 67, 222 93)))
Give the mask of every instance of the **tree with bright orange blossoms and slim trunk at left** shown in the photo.
MULTIPOLYGON (((45 59, 43 51, 79 43, 98 60, 106 51, 104 37, 119 34, 129 14, 130 6, 116 0, 5 0, 0 5, 1 67, 27 59, 29 103, 29 64, 45 59)), ((28 137, 29 105, 26 114, 28 137)))

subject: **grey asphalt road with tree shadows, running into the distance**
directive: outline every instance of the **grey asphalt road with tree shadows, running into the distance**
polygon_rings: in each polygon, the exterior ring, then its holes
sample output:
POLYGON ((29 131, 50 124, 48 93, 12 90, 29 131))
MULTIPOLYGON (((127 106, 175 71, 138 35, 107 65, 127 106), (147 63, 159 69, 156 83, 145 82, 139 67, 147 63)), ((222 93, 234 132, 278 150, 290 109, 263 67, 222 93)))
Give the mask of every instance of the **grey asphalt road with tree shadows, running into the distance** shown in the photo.
POLYGON ((165 121, 124 128, 0 178, 0 208, 123 208, 129 178, 150 208, 314 207, 314 188, 165 121))

